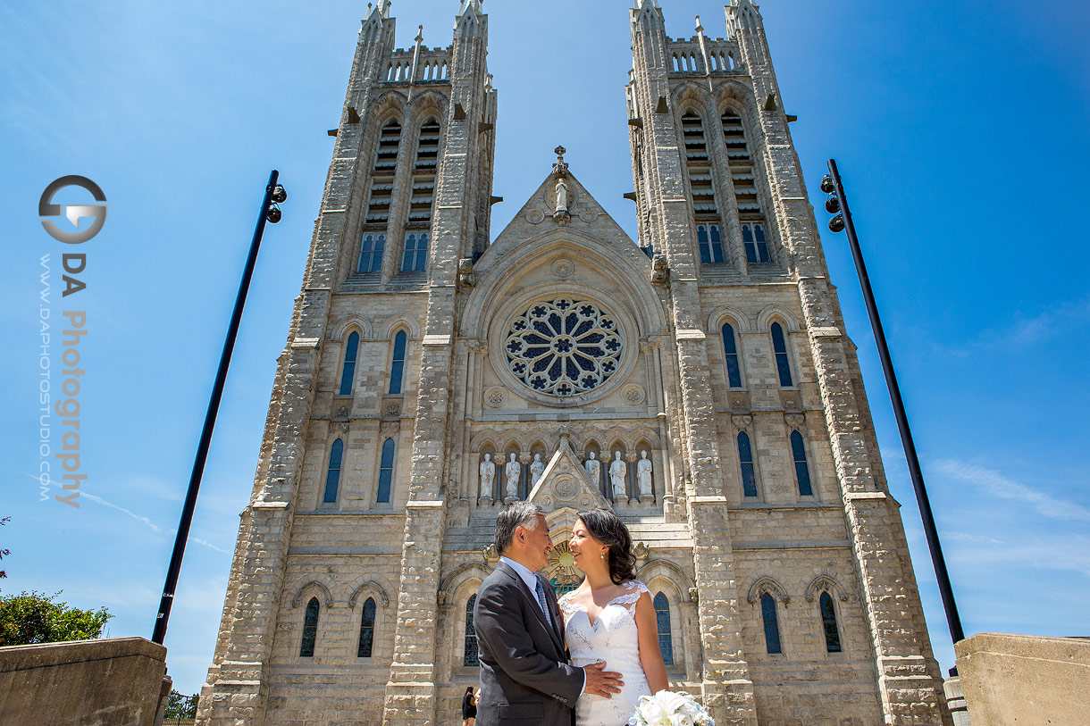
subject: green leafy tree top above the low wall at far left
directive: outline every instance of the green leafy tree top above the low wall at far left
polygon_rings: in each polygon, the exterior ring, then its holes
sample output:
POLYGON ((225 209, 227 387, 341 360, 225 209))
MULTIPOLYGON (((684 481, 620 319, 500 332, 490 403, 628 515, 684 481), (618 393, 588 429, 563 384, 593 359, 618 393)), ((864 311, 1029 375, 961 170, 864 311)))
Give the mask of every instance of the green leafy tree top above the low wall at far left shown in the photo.
POLYGON ((23 592, 0 597, 0 645, 33 645, 90 640, 113 616, 105 607, 81 610, 59 602, 61 593, 23 592))

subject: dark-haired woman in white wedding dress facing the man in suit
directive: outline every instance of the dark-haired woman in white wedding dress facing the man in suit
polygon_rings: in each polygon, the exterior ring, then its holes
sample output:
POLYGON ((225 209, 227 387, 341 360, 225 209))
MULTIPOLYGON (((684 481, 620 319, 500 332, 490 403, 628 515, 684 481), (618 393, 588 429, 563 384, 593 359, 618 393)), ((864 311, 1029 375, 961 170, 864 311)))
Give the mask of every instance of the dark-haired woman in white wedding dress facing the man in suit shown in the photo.
POLYGON ((577 726, 618 726, 628 722, 641 695, 668 688, 658 650, 658 626, 651 594, 635 579, 635 556, 628 528, 613 511, 579 513, 568 543, 576 567, 586 577, 560 601, 571 664, 597 661, 622 674, 611 699, 584 693, 576 702, 577 726))

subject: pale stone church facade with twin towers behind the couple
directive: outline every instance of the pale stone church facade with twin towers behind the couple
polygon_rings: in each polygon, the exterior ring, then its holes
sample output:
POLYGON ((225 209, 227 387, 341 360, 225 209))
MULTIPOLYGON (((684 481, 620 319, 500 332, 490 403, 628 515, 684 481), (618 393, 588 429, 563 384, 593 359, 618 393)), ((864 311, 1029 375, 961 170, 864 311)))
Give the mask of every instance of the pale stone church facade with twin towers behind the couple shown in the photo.
POLYGON ((718 724, 950 723, 762 20, 725 14, 630 10, 633 241, 559 147, 493 239, 487 15, 400 50, 371 11, 198 723, 460 723, 524 498, 558 590, 576 512, 628 523, 718 724))

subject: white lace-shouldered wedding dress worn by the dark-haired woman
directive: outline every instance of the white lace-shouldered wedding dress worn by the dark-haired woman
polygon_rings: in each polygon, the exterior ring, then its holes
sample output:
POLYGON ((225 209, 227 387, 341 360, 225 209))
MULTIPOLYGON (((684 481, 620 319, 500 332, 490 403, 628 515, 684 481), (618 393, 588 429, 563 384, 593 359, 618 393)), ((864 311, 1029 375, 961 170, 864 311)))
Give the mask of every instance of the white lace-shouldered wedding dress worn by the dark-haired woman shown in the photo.
POLYGON ((571 665, 582 667, 601 658, 606 662, 606 670, 620 673, 625 681, 620 693, 614 693, 611 699, 590 693, 580 695, 576 702, 577 726, 623 726, 635 711, 640 697, 651 695, 640 663, 635 629, 635 603, 649 591, 637 580, 625 582, 623 588, 625 593, 609 601, 593 625, 586 608, 571 602, 570 593, 559 601, 571 665))

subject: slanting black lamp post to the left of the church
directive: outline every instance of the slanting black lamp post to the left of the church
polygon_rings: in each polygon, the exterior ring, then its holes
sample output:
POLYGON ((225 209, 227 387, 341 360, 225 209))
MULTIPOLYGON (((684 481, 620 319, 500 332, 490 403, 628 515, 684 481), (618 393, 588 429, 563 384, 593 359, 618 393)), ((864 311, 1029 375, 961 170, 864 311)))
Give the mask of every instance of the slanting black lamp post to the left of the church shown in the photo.
POLYGON ((269 183, 265 186, 265 198, 257 216, 257 228, 250 243, 250 256, 239 283, 239 294, 234 299, 234 312, 231 313, 231 324, 223 340, 223 352, 219 358, 219 370, 216 372, 216 383, 211 389, 211 400, 205 413, 205 425, 201 432, 201 443, 197 445, 197 456, 193 461, 193 472, 190 474, 190 488, 185 493, 185 505, 182 507, 182 519, 178 523, 178 534, 174 536, 174 550, 170 555, 170 567, 167 568, 167 582, 162 585, 162 600, 159 601, 159 614, 155 619, 155 631, 152 640, 162 644, 167 636, 167 621, 170 619, 170 607, 174 602, 174 589, 178 586, 178 573, 182 569, 182 556, 185 554, 185 542, 190 536, 190 524, 193 522, 193 509, 197 503, 197 491, 201 488, 201 476, 204 474, 205 461, 208 459, 208 446, 211 443, 211 432, 216 426, 216 414, 219 412, 219 399, 223 396, 223 384, 227 380, 227 370, 231 364, 231 352, 234 350, 234 339, 239 334, 239 322, 242 319, 242 308, 246 304, 246 293, 250 291, 250 280, 257 263, 257 250, 265 232, 265 221, 274 225, 280 221, 280 207, 277 205, 288 198, 283 186, 277 183, 280 172, 276 169, 269 174, 269 183))

